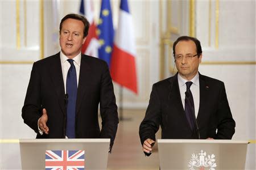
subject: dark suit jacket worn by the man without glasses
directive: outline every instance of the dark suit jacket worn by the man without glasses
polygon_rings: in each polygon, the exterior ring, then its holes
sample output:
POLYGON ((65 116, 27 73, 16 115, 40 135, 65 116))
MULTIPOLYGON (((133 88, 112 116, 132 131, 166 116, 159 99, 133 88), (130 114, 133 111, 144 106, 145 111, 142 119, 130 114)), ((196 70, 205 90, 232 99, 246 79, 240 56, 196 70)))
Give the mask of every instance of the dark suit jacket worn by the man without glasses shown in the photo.
MULTIPOLYGON (((57 53, 34 63, 22 117, 24 123, 38 134, 36 138, 64 138, 66 112, 60 53, 57 53), (43 108, 48 114, 48 135, 40 135, 38 131, 43 108)), ((82 54, 76 102, 76 138, 110 138, 112 146, 117 125, 117 105, 108 65, 101 59, 82 54)))

